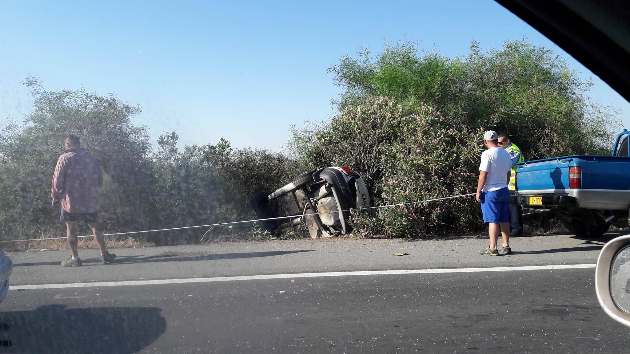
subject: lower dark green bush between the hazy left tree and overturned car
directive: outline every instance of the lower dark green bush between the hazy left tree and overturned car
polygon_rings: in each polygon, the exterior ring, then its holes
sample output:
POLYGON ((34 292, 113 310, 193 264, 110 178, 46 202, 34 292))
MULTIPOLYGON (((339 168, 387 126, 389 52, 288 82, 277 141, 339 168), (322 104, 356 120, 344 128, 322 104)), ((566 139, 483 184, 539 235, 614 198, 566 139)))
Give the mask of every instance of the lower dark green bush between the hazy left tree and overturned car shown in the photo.
MULTIPOLYGON (((250 204, 259 191, 275 190, 293 176, 291 160, 263 149, 233 149, 229 141, 186 146, 180 152, 175 132, 159 137, 154 156, 154 205, 156 225, 197 226, 256 219, 250 204)), ((162 227, 155 227, 162 228, 162 227)), ((165 232, 161 244, 198 243, 226 234, 248 238, 249 223, 165 232)), ((255 232, 255 236, 260 236, 255 232)), ((237 237, 238 238, 238 237, 237 237)), ((234 239, 234 237, 229 237, 234 239)))

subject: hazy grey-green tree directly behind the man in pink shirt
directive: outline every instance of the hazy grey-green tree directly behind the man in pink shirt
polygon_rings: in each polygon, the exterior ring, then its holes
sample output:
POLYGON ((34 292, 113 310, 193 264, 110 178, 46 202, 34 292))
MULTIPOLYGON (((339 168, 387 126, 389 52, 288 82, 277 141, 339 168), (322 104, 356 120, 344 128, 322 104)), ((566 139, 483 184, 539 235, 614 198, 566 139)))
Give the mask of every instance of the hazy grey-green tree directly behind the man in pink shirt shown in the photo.
POLYGON ((64 232, 64 226, 52 222, 59 211, 50 205, 50 179, 69 133, 81 137, 81 145, 108 174, 102 218, 124 227, 147 227, 146 195, 139 195, 137 187, 149 179, 149 137, 146 127, 132 124, 140 108, 83 88, 46 91, 33 77, 24 84, 31 88, 33 111, 23 125, 7 122, 0 137, 4 236, 64 232))

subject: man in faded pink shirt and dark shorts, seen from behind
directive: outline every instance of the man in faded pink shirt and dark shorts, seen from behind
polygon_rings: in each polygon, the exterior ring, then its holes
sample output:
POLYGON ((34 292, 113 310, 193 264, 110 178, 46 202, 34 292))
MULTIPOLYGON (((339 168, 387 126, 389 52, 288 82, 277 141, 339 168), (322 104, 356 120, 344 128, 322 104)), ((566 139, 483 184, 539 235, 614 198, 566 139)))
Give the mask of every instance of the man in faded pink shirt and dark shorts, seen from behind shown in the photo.
POLYGON ((79 137, 68 134, 64 140, 66 152, 57 159, 52 176, 52 205, 61 205, 59 220, 66 222, 71 257, 62 266, 81 266, 77 251, 77 223, 88 223, 101 250, 103 263, 110 263, 116 254, 105 249, 105 239, 98 221, 98 190, 103 185, 103 173, 94 156, 81 149, 79 137))

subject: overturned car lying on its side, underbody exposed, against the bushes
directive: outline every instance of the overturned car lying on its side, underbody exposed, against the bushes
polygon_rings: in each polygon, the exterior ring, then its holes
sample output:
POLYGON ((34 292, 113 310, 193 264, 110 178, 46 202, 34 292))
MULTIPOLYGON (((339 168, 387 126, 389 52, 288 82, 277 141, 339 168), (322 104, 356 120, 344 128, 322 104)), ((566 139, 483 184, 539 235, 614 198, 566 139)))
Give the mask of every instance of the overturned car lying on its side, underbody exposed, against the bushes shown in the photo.
POLYGON ((312 238, 348 234, 351 208, 368 208, 372 199, 363 178, 348 167, 326 167, 302 173, 273 193, 261 192, 251 205, 263 230, 278 234, 306 223, 312 238), (315 214, 318 215, 305 215, 315 214))

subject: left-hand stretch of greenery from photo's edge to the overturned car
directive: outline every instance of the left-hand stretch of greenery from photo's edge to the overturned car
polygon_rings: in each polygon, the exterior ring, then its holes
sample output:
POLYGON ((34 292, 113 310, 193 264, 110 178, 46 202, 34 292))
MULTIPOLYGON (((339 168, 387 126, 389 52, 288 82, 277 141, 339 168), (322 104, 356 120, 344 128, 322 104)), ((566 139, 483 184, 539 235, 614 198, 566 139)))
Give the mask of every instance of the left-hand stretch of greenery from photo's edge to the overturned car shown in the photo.
MULTIPOLYGON (((249 200, 295 174, 294 160, 262 149, 233 149, 229 141, 177 147, 175 132, 152 151, 146 127, 132 118, 138 106, 83 88, 46 91, 28 78, 34 109, 23 126, 8 121, 0 132, 0 240, 64 236, 50 181, 63 139, 74 133, 103 167, 100 219, 105 233, 166 229, 255 219, 249 200)), ((248 239, 249 223, 133 234, 156 244, 207 242, 219 236, 248 239)), ((88 234, 87 227, 81 232, 88 234)), ((129 236, 124 236, 127 238, 129 236)), ((290 237, 288 235, 287 237, 290 237)))

